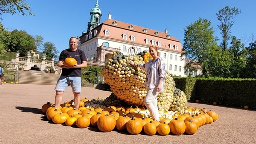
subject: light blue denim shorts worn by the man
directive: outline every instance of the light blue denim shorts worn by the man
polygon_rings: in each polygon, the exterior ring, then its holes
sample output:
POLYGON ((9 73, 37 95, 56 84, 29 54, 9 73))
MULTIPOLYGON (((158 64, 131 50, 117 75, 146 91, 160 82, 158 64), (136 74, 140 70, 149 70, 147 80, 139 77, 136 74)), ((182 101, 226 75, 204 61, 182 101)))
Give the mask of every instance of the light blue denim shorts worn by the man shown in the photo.
POLYGON ((82 84, 82 80, 81 80, 81 77, 79 76, 76 76, 76 77, 60 76, 54 90, 65 91, 66 88, 70 85, 73 92, 79 93, 81 92, 81 84, 82 84))

